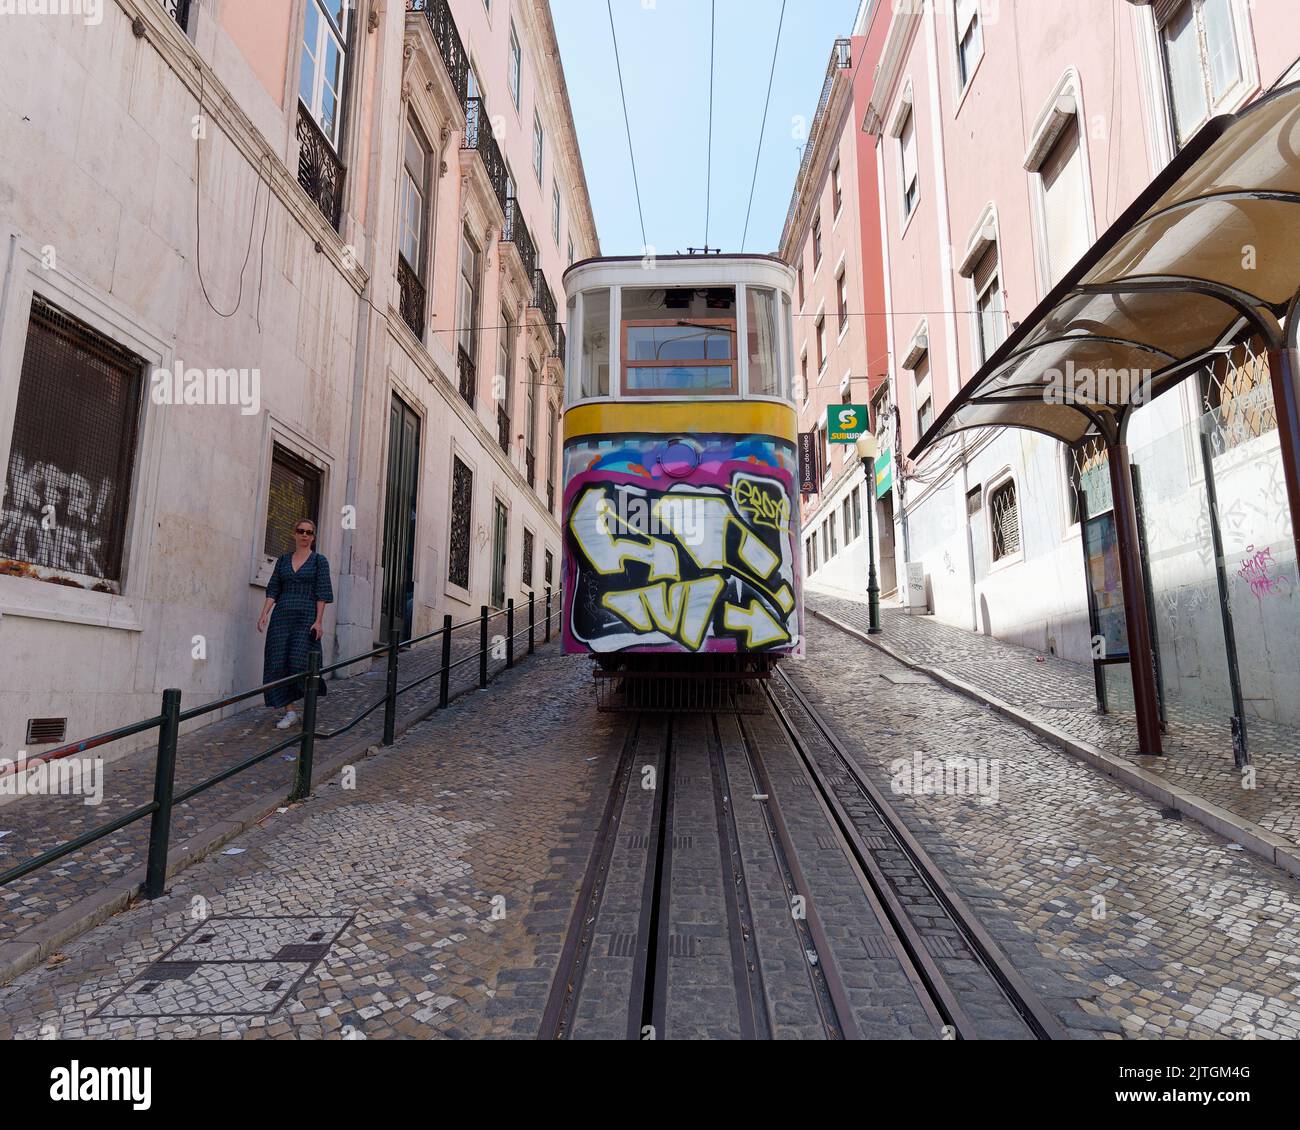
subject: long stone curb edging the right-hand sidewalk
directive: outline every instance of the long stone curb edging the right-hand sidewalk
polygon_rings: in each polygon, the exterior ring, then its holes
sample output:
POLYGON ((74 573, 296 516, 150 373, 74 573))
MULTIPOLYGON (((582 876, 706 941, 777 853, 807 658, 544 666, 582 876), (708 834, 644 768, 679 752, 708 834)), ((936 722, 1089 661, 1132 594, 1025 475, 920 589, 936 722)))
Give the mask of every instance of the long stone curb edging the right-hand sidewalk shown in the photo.
POLYGON ((949 690, 956 690, 958 694, 988 706, 991 710, 1039 735, 1039 737, 1050 741, 1066 753, 1088 762, 1093 769, 1100 770, 1106 776, 1114 778, 1134 792, 1157 801, 1162 808, 1175 809, 1212 832, 1240 844, 1245 850, 1258 856, 1261 860, 1266 860, 1300 878, 1300 845, 1277 835, 1277 832, 1270 832, 1253 821, 1239 817, 1236 813, 1228 811, 1182 785, 1171 784, 1158 774, 1143 769, 1126 757, 1108 753, 1087 741, 1080 741, 1063 729, 1052 726, 1052 723, 1027 714, 1019 707, 989 694, 987 690, 974 687, 963 679, 958 679, 941 667, 930 667, 924 663, 918 663, 909 655, 872 638, 866 632, 858 631, 829 612, 814 609, 812 615, 845 635, 853 636, 853 638, 875 648, 878 651, 883 651, 896 663, 901 663, 904 667, 933 679, 949 690))

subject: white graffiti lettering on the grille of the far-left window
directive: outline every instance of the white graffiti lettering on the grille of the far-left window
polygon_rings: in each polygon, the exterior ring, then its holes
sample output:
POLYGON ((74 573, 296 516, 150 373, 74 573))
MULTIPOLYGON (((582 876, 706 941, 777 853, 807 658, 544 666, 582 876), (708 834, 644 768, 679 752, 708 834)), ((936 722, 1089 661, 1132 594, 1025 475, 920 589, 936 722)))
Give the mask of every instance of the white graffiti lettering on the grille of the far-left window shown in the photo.
POLYGON ((109 479, 96 486, 53 463, 27 463, 14 451, 0 512, 0 558, 104 579, 112 498, 109 479))

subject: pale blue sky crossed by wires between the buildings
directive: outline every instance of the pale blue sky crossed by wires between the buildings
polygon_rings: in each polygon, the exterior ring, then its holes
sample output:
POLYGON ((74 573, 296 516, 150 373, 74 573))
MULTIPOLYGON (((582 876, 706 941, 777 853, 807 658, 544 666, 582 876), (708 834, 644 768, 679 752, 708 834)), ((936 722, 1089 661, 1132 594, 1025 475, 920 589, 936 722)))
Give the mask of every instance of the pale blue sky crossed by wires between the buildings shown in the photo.
MULTIPOLYGON (((708 243, 741 250, 781 0, 716 0, 708 243)), ((612 0, 646 241, 660 255, 705 242, 710 0, 612 0)), ((831 48, 857 0, 786 0, 746 251, 774 251, 831 48)), ((641 254, 606 0, 551 0, 604 255, 641 254)))

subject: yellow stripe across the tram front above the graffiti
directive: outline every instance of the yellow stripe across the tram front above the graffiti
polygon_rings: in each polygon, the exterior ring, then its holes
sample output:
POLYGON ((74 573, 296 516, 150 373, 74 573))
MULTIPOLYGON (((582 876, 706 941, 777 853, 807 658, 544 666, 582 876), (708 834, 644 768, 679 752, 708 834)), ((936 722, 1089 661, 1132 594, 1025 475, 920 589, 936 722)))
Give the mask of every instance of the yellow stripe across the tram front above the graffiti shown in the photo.
POLYGON ((564 438, 637 433, 775 436, 797 442, 798 421, 788 404, 766 401, 670 401, 577 404, 564 414, 564 438))

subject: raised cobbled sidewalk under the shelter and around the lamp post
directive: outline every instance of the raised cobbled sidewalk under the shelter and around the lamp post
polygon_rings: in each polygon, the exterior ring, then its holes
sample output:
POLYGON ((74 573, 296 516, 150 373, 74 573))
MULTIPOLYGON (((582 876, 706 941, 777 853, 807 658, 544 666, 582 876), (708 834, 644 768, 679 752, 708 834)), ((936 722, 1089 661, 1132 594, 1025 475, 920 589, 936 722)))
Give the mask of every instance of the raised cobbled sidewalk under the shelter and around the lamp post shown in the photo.
MULTIPOLYGON (((866 599, 809 590, 810 610, 822 609, 866 631, 866 599)), ((933 616, 883 606, 881 640, 916 663, 939 667, 997 698, 1066 731, 1080 741, 1127 757, 1143 769, 1300 844, 1300 732, 1274 722, 1248 722, 1254 787, 1243 788, 1232 765, 1228 716, 1184 700, 1167 703, 1165 757, 1136 758, 1136 728, 1127 684, 1109 688, 1110 713, 1095 709, 1092 671, 1057 655, 980 636, 933 616)))

